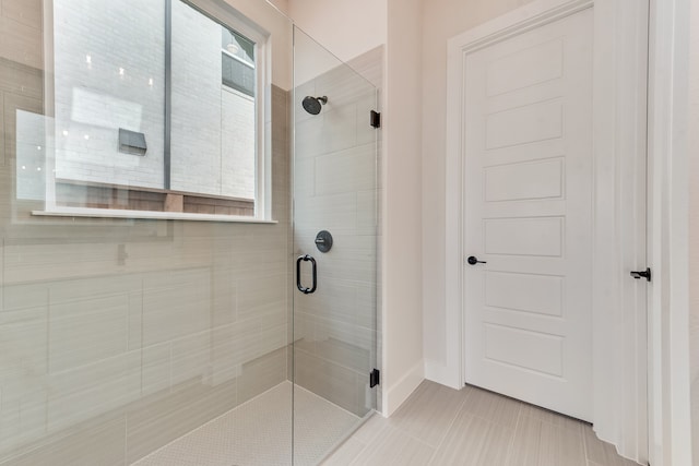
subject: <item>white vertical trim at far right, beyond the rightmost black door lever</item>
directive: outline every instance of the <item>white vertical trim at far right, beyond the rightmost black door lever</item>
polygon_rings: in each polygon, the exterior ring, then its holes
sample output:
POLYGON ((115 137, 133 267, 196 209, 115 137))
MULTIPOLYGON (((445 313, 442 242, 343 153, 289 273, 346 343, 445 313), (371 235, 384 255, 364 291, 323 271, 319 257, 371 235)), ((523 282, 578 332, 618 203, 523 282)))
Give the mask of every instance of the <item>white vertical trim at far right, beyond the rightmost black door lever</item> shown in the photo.
POLYGON ((649 255, 657 277, 649 315, 653 466, 692 464, 687 280, 690 14, 688 0, 652 1, 649 255))

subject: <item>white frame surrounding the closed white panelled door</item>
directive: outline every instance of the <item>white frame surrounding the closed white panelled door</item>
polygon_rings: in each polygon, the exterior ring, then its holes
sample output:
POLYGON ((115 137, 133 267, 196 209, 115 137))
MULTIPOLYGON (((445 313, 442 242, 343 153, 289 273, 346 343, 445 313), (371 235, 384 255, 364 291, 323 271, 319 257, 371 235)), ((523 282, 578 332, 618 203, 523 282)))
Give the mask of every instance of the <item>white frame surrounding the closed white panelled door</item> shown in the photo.
POLYGON ((463 386, 463 56, 588 8, 594 8, 593 429, 621 455, 645 464, 648 322, 642 304, 649 287, 635 283, 628 273, 647 263, 647 219, 641 214, 648 152, 649 0, 535 0, 449 40, 447 363, 426 372, 440 383, 463 386), (637 207, 628 208, 629 203, 637 207))

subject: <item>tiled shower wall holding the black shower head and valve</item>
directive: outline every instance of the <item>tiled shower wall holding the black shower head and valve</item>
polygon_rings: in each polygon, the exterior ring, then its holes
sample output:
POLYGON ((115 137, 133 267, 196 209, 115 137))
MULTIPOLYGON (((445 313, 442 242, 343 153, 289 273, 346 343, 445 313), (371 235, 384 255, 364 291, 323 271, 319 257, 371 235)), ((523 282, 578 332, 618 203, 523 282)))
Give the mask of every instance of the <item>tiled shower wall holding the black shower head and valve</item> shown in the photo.
MULTIPOLYGON (((380 70, 381 50, 355 61, 362 71, 380 70)), ((293 108, 295 252, 318 261, 318 290, 296 292, 294 299, 295 382, 357 416, 374 407, 376 396, 368 374, 375 367, 379 312, 380 131, 369 126, 377 105, 376 88, 339 65, 297 86, 293 108), (320 115, 304 111, 307 95, 328 96, 320 115), (328 253, 313 243, 323 229, 334 238, 328 253)), ((308 273, 303 279, 310 283, 308 273)))

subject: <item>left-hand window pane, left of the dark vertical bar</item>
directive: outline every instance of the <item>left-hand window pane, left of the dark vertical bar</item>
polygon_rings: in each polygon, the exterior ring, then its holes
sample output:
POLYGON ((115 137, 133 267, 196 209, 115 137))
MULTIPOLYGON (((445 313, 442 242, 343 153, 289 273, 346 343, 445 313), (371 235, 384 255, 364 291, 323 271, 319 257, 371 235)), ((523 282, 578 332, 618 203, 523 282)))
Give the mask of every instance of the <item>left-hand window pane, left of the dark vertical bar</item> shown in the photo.
POLYGON ((164 0, 55 0, 54 7, 58 202, 80 203, 79 195, 90 196, 86 184, 100 193, 107 186, 163 189, 164 0), (143 151, 126 153, 120 129, 143 138, 143 151))

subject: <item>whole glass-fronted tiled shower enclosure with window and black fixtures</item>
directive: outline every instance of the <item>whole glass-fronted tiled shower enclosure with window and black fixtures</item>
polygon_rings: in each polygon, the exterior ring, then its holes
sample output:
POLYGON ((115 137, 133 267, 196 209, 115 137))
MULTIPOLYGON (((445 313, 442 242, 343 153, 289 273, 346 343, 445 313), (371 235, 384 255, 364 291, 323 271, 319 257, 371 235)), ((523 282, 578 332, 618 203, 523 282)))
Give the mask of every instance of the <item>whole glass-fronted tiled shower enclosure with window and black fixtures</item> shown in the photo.
POLYGON ((320 463, 377 404, 376 87, 257 0, 0 15, 0 465, 320 463))

